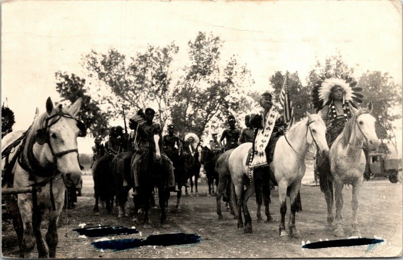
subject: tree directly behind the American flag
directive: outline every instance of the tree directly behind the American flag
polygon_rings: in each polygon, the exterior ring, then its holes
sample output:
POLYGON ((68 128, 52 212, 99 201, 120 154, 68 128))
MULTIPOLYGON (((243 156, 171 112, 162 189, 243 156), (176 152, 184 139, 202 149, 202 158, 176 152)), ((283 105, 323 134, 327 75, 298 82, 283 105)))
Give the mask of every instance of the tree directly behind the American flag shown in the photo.
MULTIPOLYGON (((289 73, 288 71, 286 74, 289 73)), ((270 77, 270 82, 274 88, 274 97, 276 101, 280 100, 280 91, 284 83, 284 78, 281 71, 276 71, 276 73, 270 77)), ((311 110, 310 101, 310 89, 307 86, 303 86, 301 80, 299 79, 298 72, 289 73, 288 75, 288 88, 290 93, 290 99, 293 103, 294 108, 294 118, 295 121, 299 121, 305 118, 305 112, 311 110)))

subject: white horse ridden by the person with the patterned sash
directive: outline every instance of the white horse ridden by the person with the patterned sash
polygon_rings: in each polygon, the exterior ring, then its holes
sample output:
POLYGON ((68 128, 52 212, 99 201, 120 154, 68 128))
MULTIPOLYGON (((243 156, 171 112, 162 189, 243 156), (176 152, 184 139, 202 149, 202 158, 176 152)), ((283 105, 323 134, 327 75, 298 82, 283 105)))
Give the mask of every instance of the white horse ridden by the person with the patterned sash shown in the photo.
MULTIPOLYGON (((279 186, 279 199, 281 203, 281 224, 280 238, 288 238, 285 230, 285 215, 287 211, 286 197, 290 196, 291 215, 289 221, 290 233, 294 237, 301 237, 295 227, 295 212, 297 211, 297 195, 301 186, 301 179, 305 174, 305 157, 308 148, 315 145, 321 156, 327 156, 329 148, 325 139, 326 126, 320 114, 309 115, 302 121, 296 123, 281 136, 276 144, 273 161, 270 167, 274 172, 271 179, 279 186)), ((231 179, 234 185, 237 207, 238 207, 238 228, 243 226, 241 209, 244 209, 245 232, 252 231, 252 219, 247 209, 247 200, 254 193, 254 185, 250 184, 247 178, 248 166, 246 158, 251 143, 244 143, 231 153, 229 157, 229 168, 231 179), (246 190, 243 187, 246 185, 246 190)), ((267 174, 270 174, 267 169, 267 174)))

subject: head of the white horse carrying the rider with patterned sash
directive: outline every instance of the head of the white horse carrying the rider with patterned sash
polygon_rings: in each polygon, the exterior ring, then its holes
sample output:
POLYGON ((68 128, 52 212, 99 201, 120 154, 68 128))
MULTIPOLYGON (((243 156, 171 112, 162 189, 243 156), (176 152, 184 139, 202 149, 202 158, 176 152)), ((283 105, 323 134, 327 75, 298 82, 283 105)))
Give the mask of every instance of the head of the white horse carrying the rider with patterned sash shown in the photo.
POLYGON ((321 157, 329 155, 329 146, 326 142, 326 125, 321 114, 309 114, 306 130, 306 140, 309 145, 315 145, 321 157))

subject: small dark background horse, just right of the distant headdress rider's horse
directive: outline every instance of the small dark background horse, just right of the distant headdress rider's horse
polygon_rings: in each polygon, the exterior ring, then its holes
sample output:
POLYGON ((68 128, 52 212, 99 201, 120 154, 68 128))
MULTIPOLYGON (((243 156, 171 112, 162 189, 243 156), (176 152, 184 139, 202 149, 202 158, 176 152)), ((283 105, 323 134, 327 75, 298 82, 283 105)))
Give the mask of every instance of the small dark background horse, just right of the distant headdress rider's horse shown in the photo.
POLYGON ((216 180, 216 187, 218 187, 219 175, 216 171, 216 163, 220 153, 216 154, 209 147, 203 146, 201 148, 201 158, 200 162, 203 164, 204 169, 206 170, 207 182, 209 185, 209 195, 211 195, 212 191, 214 194, 214 180, 216 180), (213 184, 213 187, 211 186, 213 184))

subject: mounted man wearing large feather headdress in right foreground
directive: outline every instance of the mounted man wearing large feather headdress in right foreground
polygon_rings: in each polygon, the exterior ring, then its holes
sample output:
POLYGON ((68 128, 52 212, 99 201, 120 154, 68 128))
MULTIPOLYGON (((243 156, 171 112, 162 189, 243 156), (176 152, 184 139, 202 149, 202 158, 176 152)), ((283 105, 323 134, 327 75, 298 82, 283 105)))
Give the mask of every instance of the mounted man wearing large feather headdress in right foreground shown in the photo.
MULTIPOLYGON (((356 103, 362 103, 362 91, 358 88, 357 81, 347 74, 325 74, 317 81, 312 90, 313 107, 321 113, 326 124, 326 140, 330 147, 333 141, 343 132, 344 125, 352 117, 352 111, 357 110, 356 103)), ((371 176, 368 165, 368 150, 364 149, 367 159, 364 176, 371 176)), ((330 172, 328 159, 317 157, 316 166, 318 171, 330 172)))

